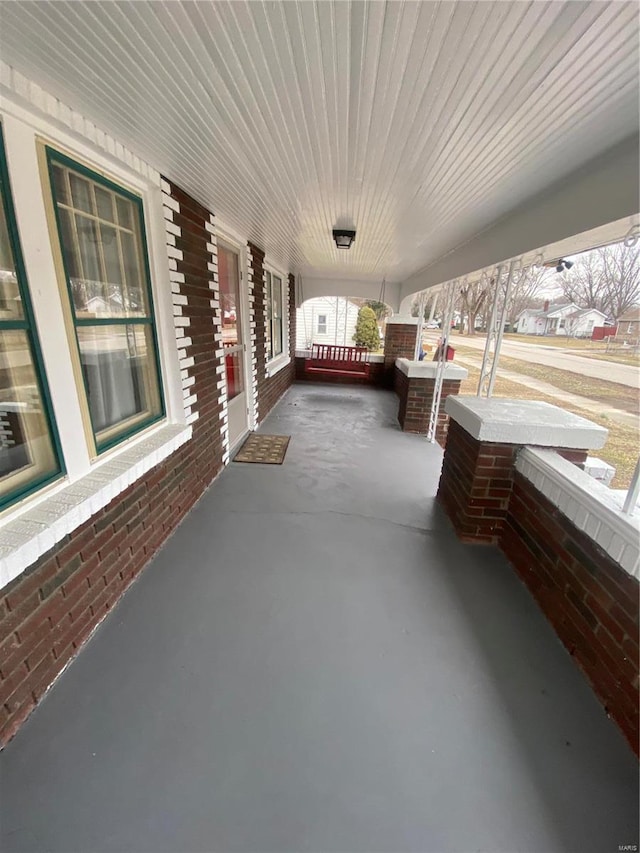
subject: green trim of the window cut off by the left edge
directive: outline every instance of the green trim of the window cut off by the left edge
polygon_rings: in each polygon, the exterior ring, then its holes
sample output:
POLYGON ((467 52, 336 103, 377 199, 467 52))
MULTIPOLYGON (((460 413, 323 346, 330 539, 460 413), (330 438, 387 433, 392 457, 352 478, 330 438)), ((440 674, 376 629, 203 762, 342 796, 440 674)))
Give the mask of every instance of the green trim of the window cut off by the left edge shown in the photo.
POLYGON ((22 320, 2 320, 0 319, 0 331, 24 331, 31 356, 34 361, 35 380, 43 405, 43 415, 45 418, 47 430, 51 443, 53 445, 53 454, 55 461, 54 470, 43 476, 36 476, 28 485, 8 491, 6 494, 0 494, 0 511, 12 506, 18 501, 40 491, 45 486, 50 485, 66 474, 64 465, 64 457, 62 454, 62 446, 53 412, 53 404, 51 394, 49 392, 49 384, 42 358, 42 350, 40 349, 40 340, 37 333, 35 316, 31 305, 31 296, 29 293, 29 284, 27 273, 24 265, 24 257, 22 254, 22 245, 20 242, 20 234, 13 206, 13 194, 11 191, 11 181, 9 179, 9 167, 7 163, 4 131, 0 123, 0 197, 3 206, 7 230, 9 232, 9 243, 13 254, 15 264, 16 279, 18 283, 18 292, 22 303, 22 311, 24 319, 22 320))

